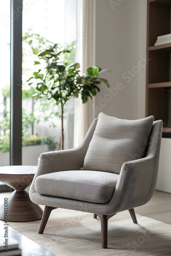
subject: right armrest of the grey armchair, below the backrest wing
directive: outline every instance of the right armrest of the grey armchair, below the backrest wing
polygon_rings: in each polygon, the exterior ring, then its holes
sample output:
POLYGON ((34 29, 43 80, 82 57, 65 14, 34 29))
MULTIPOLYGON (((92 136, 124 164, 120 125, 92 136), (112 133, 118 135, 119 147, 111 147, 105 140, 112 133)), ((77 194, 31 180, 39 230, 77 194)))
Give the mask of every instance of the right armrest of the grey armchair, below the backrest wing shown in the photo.
POLYGON ((152 156, 124 163, 110 204, 114 202, 119 212, 147 203, 153 196, 157 173, 152 156))

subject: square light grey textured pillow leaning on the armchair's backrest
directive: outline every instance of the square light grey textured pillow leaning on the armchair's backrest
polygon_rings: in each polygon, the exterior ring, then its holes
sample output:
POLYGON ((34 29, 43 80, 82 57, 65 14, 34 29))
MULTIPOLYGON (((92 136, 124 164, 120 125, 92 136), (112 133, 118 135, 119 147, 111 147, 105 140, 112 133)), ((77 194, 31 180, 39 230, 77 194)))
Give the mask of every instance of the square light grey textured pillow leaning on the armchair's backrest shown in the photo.
POLYGON ((100 113, 84 158, 84 170, 120 173, 122 164, 143 157, 154 116, 126 120, 100 113))

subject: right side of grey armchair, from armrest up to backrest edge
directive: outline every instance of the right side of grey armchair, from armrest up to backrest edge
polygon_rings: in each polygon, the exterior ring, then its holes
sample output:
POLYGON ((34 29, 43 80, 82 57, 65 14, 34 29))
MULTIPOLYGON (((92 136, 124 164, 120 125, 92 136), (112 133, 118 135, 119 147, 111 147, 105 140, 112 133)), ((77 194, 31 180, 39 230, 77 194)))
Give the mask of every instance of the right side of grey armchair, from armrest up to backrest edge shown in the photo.
POLYGON ((147 142, 146 157, 122 165, 110 205, 113 211, 146 204, 153 196, 157 183, 162 121, 154 121, 147 142))

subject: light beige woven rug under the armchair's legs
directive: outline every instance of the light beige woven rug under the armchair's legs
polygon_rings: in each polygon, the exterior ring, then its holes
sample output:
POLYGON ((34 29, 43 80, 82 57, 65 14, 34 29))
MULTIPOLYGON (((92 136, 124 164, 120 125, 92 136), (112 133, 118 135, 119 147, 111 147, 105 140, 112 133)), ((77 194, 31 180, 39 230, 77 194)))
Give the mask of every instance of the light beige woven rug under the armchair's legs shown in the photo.
POLYGON ((85 212, 53 210, 43 234, 40 221, 9 225, 57 256, 171 256, 171 226, 136 216, 138 224, 129 211, 109 220, 108 249, 101 249, 100 220, 85 212))

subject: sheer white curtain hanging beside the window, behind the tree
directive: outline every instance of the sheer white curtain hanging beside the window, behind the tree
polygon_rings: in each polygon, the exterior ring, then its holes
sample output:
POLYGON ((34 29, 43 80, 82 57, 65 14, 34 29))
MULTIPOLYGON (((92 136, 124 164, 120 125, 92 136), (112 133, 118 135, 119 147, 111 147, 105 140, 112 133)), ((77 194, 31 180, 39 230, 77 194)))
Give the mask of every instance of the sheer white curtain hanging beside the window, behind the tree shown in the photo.
MULTIPOLYGON (((81 72, 95 65, 95 2, 96 0, 77 0, 77 54, 76 61, 81 72)), ((75 100, 74 146, 78 146, 86 135, 94 119, 92 109, 94 99, 82 104, 81 98, 75 100)))

